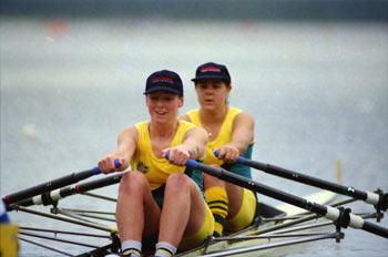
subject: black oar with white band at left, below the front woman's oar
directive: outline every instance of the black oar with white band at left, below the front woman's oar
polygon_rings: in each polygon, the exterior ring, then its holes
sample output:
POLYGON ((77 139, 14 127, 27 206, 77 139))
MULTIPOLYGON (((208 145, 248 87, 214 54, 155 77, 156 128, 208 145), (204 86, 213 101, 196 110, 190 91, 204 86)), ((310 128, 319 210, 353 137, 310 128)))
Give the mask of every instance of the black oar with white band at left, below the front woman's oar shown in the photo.
MULTIPOLYGON (((70 195, 83 194, 88 191, 92 191, 92 189, 101 188, 104 186, 118 184, 124 174, 125 173, 116 173, 112 176, 106 176, 106 177, 99 178, 95 181, 85 182, 85 183, 63 187, 63 188, 51 191, 51 192, 45 192, 41 195, 37 195, 34 197, 29 197, 27 199, 20 201, 17 203, 17 205, 27 207, 27 206, 40 205, 40 204, 43 204, 43 205, 54 204, 59 199, 62 199, 62 198, 70 196, 70 195)), ((12 207, 10 207, 10 205, 8 205, 8 206, 9 206, 9 209, 12 209, 12 207)))

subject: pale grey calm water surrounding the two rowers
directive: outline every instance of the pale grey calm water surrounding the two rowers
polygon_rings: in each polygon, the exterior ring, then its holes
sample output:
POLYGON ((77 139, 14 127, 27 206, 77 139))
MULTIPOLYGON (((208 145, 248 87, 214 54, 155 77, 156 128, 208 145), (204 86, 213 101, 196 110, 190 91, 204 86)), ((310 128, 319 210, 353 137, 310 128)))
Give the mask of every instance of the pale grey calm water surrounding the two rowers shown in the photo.
MULTIPOLYGON (((124 126, 147 119, 142 92, 155 70, 178 72, 181 113, 195 107, 190 79, 207 61, 227 64, 231 104, 255 117, 255 160, 328 181, 340 160, 345 185, 388 191, 386 23, 2 19, 0 60, 2 196, 95 166, 124 126)), ((316 191, 259 172, 254 177, 296 195, 316 191)), ((114 197, 116 186, 100 192, 114 197)), ((63 206, 114 212, 114 204, 85 197, 63 206)), ((339 245, 326 240, 289 256, 387 255, 387 240, 345 232, 339 245)), ((22 243, 21 256, 53 254, 22 243)))

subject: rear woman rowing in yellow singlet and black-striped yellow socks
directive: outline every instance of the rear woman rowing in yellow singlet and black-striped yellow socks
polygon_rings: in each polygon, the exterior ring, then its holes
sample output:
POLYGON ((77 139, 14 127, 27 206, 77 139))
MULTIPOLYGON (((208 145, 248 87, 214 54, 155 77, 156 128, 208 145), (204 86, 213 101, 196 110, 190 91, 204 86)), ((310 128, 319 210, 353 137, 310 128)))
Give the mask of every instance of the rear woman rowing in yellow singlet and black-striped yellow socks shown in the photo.
MULTIPOLYGON (((245 112, 228 105, 231 75, 225 65, 208 62, 196 69, 195 91, 200 109, 184 114, 188 121, 207 131, 204 163, 223 167, 251 178, 251 169, 234 164, 239 155, 251 158, 254 143, 254 120, 245 112), (214 155, 219 151, 219 155, 214 155)), ((207 204, 215 219, 214 236, 223 230, 236 232, 247 227, 255 217, 256 195, 245 188, 204 174, 207 204)))

